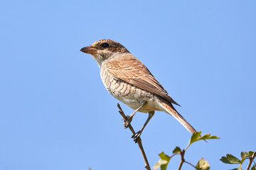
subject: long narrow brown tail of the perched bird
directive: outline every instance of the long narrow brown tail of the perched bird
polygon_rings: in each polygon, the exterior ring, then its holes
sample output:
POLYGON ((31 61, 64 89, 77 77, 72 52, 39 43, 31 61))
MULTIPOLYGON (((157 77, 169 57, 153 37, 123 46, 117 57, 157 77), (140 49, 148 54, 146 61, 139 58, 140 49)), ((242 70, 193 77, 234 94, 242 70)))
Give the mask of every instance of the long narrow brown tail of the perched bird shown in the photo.
POLYGON ((176 120, 178 120, 179 123, 181 123, 181 125, 183 125, 189 132, 194 133, 196 132, 195 128, 193 128, 193 126, 191 126, 191 124, 189 124, 183 117, 182 115, 180 115, 178 113, 178 111, 176 111, 176 109, 174 108, 174 106, 172 106, 171 103, 167 104, 164 102, 159 102, 159 105, 162 108, 162 111, 169 113, 170 115, 174 116, 174 118, 176 118, 176 120))

